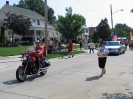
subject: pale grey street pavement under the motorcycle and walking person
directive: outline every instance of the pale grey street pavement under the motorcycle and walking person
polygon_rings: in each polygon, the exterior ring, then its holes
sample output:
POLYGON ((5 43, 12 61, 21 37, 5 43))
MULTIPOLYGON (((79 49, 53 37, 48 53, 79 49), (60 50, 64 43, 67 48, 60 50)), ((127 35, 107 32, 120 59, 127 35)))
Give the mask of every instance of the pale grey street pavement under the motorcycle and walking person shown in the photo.
POLYGON ((16 80, 19 58, 0 60, 0 99, 133 99, 133 51, 108 56, 99 77, 97 55, 52 59, 45 76, 16 80))

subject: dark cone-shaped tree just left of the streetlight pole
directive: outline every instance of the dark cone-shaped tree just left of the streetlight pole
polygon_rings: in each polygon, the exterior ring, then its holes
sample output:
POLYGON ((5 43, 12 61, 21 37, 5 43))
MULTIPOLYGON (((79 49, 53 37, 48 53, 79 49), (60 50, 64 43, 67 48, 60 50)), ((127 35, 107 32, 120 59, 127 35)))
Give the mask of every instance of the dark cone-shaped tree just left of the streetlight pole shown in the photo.
POLYGON ((99 25, 96 27, 96 33, 98 37, 102 40, 107 40, 110 38, 111 30, 109 28, 108 20, 102 19, 99 25))

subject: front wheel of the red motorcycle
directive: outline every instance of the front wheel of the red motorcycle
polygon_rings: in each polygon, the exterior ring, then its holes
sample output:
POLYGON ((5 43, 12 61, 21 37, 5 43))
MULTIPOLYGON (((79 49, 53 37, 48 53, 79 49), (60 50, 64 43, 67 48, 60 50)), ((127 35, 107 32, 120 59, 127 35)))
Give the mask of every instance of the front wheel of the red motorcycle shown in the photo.
POLYGON ((27 77, 27 74, 24 74, 24 68, 18 67, 16 70, 16 78, 19 82, 24 82, 27 77))

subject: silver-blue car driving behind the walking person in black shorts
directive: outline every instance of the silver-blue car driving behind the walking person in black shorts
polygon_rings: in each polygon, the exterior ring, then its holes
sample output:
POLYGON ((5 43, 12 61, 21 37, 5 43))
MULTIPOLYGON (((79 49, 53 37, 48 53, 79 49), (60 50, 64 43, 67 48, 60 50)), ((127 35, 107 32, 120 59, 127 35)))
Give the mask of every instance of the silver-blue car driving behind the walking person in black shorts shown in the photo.
POLYGON ((108 48, 109 54, 125 53, 126 46, 121 44, 121 41, 106 41, 105 48, 108 48))

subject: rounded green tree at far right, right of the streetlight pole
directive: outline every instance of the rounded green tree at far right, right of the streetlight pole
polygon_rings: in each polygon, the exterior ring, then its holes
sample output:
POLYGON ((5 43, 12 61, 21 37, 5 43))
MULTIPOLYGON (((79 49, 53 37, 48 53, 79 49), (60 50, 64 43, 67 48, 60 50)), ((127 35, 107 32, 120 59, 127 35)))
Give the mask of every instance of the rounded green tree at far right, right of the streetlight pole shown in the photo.
POLYGON ((128 37, 131 27, 127 26, 126 24, 118 23, 115 25, 115 31, 118 37, 128 37))

